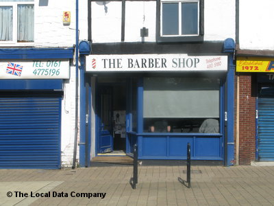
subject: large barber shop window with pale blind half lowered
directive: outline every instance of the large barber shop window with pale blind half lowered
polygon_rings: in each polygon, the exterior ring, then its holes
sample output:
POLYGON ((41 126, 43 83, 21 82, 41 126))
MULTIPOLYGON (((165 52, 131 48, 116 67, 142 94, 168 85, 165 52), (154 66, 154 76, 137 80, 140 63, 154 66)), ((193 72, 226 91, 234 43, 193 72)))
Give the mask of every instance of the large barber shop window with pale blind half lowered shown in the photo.
POLYGON ((219 133, 219 79, 144 78, 144 132, 219 133))

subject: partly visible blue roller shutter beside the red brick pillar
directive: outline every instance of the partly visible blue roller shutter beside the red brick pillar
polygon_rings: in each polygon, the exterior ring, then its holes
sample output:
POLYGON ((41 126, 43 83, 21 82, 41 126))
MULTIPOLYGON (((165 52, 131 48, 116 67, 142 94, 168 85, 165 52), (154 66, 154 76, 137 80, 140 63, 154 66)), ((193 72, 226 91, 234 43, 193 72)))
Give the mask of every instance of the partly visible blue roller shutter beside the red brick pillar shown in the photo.
POLYGON ((258 98, 258 160, 274 161, 274 98, 258 98))

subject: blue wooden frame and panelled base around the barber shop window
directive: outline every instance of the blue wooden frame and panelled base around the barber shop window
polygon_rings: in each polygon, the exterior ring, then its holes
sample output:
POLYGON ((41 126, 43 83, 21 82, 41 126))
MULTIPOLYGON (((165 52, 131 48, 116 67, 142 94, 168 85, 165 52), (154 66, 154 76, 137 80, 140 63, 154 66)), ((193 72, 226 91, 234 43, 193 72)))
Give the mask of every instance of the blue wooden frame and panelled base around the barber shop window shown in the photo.
POLYGON ((186 146, 190 143, 192 159, 223 161, 224 82, 222 79, 220 79, 219 87, 219 133, 148 132, 143 127, 145 125, 144 91, 144 78, 140 78, 138 82, 138 132, 130 134, 132 142, 138 144, 139 159, 186 159, 186 146))

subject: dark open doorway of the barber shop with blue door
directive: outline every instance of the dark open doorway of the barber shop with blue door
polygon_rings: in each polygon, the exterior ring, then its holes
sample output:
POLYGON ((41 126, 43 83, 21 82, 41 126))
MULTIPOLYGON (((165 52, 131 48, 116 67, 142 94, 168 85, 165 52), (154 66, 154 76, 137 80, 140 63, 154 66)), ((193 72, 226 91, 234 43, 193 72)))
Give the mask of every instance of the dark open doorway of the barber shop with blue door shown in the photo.
POLYGON ((99 79, 97 86, 97 153, 125 153, 126 84, 99 79))

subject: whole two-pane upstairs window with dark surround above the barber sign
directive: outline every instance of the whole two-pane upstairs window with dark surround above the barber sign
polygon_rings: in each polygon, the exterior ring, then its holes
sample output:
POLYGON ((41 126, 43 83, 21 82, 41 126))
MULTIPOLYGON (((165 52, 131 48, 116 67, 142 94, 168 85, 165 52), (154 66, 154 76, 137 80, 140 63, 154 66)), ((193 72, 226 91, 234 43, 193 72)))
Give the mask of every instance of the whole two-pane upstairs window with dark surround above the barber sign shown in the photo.
POLYGON ((203 0, 158 0, 158 41, 202 41, 203 0))

